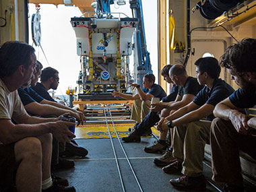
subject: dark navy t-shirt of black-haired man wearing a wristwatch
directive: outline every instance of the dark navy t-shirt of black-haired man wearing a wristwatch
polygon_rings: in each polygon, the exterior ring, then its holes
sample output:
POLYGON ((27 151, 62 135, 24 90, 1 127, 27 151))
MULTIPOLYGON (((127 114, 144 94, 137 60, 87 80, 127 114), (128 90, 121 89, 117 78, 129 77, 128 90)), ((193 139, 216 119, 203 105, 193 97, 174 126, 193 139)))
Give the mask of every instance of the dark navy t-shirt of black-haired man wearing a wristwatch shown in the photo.
MULTIPOLYGON (((216 79, 212 88, 210 89, 205 86, 197 96, 195 96, 193 102, 198 106, 203 106, 203 104, 216 106, 216 104, 230 96, 232 92, 234 92, 234 89, 229 84, 222 79, 216 79)), ((206 117, 208 121, 212 121, 214 118, 213 114, 206 117)))

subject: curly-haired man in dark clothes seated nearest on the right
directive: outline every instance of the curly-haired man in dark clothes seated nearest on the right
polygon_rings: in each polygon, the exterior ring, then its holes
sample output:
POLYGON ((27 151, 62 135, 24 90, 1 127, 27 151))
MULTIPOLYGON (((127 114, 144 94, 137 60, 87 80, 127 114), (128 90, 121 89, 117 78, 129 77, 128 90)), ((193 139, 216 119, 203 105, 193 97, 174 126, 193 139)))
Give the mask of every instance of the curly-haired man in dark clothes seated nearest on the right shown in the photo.
POLYGON ((247 38, 226 49, 220 64, 239 88, 214 109, 210 131, 214 181, 227 183, 224 191, 244 191, 239 150, 256 160, 256 118, 239 111, 256 104, 256 39, 247 38), (254 132, 254 134, 253 134, 254 132))

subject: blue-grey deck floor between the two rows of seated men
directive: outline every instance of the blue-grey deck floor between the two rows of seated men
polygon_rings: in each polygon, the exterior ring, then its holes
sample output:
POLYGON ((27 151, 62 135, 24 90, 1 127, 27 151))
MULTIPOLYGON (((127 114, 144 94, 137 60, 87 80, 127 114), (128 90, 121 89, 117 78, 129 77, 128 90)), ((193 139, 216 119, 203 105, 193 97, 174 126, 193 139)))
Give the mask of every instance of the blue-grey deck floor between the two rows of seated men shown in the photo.
MULTIPOLYGON (((143 148, 154 141, 154 137, 142 137, 140 143, 123 143, 143 191, 181 191, 174 189, 168 182, 181 174, 166 174, 152 160, 160 154, 149 154, 143 148)), ((89 154, 84 159, 74 159, 75 168, 56 172, 59 177, 68 179, 78 192, 82 191, 123 191, 115 162, 110 139, 76 139, 79 146, 86 148, 89 154)), ((125 159, 117 139, 113 139, 119 165, 125 185, 125 191, 139 191, 131 169, 125 159)), ((207 179, 212 170, 205 166, 207 179)), ((207 183, 205 191, 218 191, 207 183)))

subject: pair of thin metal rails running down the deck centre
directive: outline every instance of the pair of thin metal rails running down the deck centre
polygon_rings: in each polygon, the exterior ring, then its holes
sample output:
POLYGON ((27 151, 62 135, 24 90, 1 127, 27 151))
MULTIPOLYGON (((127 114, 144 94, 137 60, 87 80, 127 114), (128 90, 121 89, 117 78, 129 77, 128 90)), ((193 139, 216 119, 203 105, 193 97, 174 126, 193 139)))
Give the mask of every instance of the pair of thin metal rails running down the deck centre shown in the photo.
POLYGON ((116 164, 117 164, 117 170, 118 170, 118 172, 119 172, 119 179, 120 179, 120 181, 121 181, 122 189, 123 189, 123 191, 125 191, 125 185, 124 185, 124 183, 123 183, 123 177, 122 177, 122 174, 121 174, 121 169, 120 169, 120 166, 119 166, 119 161, 118 161, 118 159, 117 159, 117 153, 116 153, 116 150, 115 150, 115 146, 114 146, 114 144, 113 144, 113 138, 112 138, 112 136, 111 136, 110 129, 109 129, 109 127, 108 127, 108 120, 107 120, 107 112, 106 112, 106 110, 108 110, 108 113, 109 113, 109 115, 110 115, 111 123, 113 124, 113 127, 114 127, 114 129, 115 129, 115 134, 117 135, 117 139, 118 139, 119 144, 120 144, 120 146, 121 146, 121 148, 122 148, 122 150, 123 150, 123 154, 125 154, 125 159, 127 160, 128 164, 129 164, 129 167, 131 168, 131 172, 133 172, 133 177, 135 178, 135 181, 136 181, 136 183, 137 183, 137 185, 138 185, 138 187, 139 187, 139 190, 140 190, 141 192, 143 192, 143 189, 142 189, 142 187, 141 187, 141 185, 140 185, 140 183, 139 183, 139 180, 137 179, 137 176, 136 176, 136 174, 135 174, 135 171, 133 170, 133 166, 131 165, 131 162, 129 161, 129 158, 128 158, 128 156, 127 156, 127 153, 125 152, 125 149, 123 148, 123 144, 122 144, 121 141, 120 141, 120 138, 119 138, 119 135, 118 135, 118 133, 117 133, 117 129, 116 129, 116 127, 115 127, 115 123, 114 123, 114 120, 113 120, 113 117, 112 117, 112 114, 111 114, 111 110, 110 110, 110 108, 105 107, 105 106, 103 107, 103 110, 104 110, 104 117, 105 117, 105 120, 106 120, 106 127, 108 128, 108 135, 109 135, 109 138, 110 138, 111 146, 112 146, 112 148, 113 148, 113 153, 114 153, 114 156, 115 156, 115 162, 116 162, 116 164))

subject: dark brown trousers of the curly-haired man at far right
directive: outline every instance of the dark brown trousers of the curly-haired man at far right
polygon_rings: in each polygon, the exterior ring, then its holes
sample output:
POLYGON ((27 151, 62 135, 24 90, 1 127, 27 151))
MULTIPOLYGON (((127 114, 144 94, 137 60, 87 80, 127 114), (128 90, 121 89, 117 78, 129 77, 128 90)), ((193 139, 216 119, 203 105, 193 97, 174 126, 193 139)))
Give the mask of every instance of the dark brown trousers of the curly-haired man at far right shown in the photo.
POLYGON ((212 171, 214 181, 232 185, 243 185, 239 150, 256 160, 256 137, 242 135, 230 121, 216 118, 210 131, 212 148, 212 171))

